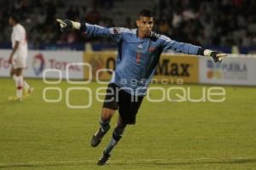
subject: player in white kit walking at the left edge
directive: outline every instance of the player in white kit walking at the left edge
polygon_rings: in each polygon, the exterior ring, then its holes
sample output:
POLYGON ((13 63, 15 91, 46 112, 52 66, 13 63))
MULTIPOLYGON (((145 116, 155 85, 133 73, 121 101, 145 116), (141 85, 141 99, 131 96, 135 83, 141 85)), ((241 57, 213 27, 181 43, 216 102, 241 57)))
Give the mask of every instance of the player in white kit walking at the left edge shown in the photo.
POLYGON ((10 76, 15 80, 16 96, 9 97, 10 100, 22 100, 25 95, 32 93, 33 88, 23 80, 22 71, 26 68, 27 42, 26 30, 19 24, 18 17, 13 14, 9 16, 9 25, 13 27, 11 34, 12 52, 9 56, 9 64, 11 65, 10 76), (25 88, 25 94, 22 90, 25 88))

